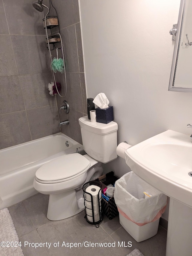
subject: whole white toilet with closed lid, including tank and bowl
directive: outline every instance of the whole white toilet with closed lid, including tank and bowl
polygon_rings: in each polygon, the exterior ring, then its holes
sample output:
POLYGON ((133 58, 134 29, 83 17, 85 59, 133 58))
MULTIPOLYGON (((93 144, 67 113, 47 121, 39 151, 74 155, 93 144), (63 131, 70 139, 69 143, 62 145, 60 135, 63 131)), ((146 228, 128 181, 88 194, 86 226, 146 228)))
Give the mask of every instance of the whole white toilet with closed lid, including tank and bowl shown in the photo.
POLYGON ((35 173, 34 188, 49 195, 49 220, 62 220, 81 212, 85 208, 82 185, 102 175, 101 163, 117 158, 117 123, 93 123, 85 116, 79 118, 79 125, 87 154, 60 156, 35 173))

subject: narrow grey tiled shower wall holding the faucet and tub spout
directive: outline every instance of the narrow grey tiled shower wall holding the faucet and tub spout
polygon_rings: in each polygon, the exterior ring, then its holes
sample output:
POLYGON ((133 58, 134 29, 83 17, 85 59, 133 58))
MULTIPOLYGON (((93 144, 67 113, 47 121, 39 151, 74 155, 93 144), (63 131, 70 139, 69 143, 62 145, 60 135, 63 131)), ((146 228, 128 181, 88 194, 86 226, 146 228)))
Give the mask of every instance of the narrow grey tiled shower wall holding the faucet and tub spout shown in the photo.
MULTIPOLYGON (((82 143, 78 119, 87 115, 87 104, 78 0, 52 0, 52 3, 58 13, 64 46, 67 76, 67 95, 64 99, 70 107, 69 114, 63 110, 59 114, 60 121, 68 119, 70 122, 61 126, 61 132, 82 143)), ((56 74, 56 78, 64 87, 64 75, 56 74)), ((57 96, 58 109, 64 99, 57 96)))

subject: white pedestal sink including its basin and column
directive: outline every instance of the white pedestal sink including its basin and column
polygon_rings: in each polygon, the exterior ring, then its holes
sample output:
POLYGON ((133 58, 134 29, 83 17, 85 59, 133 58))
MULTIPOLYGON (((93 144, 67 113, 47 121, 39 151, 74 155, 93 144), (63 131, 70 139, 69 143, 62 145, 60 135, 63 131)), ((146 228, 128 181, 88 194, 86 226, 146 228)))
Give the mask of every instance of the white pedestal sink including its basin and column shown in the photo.
POLYGON ((140 178, 170 197, 166 256, 192 255, 192 141, 167 130, 125 151, 140 178))

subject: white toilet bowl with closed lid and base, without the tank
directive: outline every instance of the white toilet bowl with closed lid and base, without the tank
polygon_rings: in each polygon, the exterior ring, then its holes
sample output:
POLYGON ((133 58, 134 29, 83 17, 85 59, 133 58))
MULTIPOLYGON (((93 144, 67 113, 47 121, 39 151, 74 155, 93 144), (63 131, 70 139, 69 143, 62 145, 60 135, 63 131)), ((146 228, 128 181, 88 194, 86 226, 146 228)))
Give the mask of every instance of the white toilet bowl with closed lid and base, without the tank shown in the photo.
POLYGON ((62 220, 81 212, 84 206, 82 185, 103 173, 101 163, 88 155, 63 155, 40 167, 34 188, 49 195, 47 218, 62 220))

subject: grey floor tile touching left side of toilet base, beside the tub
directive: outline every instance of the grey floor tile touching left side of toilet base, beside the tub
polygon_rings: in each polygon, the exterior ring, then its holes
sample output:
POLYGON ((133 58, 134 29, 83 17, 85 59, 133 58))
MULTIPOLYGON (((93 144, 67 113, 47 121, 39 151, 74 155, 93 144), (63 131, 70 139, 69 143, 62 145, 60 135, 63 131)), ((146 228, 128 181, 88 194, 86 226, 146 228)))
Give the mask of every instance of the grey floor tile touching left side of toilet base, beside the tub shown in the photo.
POLYGON ((41 193, 33 195, 23 201, 35 228, 50 222, 46 217, 48 202, 49 195, 43 195, 41 193))

